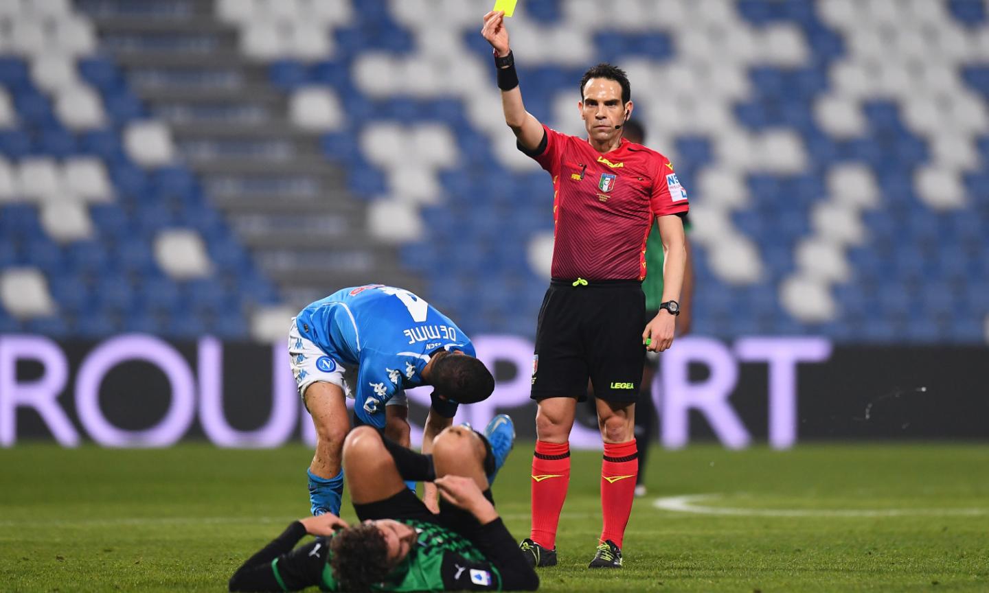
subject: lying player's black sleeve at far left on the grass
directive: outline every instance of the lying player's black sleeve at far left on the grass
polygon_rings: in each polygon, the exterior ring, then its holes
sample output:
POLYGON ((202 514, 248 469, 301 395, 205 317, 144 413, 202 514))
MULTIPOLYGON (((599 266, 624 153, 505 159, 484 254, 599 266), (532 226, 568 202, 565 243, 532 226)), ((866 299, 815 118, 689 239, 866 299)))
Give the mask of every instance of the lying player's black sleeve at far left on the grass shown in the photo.
POLYGON ((230 577, 230 591, 298 591, 319 584, 329 546, 319 538, 295 550, 306 536, 296 521, 258 551, 230 577))

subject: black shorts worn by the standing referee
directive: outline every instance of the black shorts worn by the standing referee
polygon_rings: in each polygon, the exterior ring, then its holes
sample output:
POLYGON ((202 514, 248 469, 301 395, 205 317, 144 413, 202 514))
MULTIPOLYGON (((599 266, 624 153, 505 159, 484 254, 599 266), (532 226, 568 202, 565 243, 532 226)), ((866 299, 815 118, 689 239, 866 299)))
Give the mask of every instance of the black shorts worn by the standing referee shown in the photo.
POLYGON ((635 402, 645 364, 646 296, 635 281, 553 280, 536 326, 532 398, 635 402))

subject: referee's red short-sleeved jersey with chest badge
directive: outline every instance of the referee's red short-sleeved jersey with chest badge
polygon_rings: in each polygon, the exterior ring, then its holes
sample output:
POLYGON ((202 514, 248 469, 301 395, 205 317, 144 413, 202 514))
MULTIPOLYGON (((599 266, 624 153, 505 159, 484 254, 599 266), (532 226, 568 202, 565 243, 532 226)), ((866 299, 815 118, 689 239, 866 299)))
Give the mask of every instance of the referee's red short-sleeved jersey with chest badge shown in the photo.
POLYGON ((670 159, 622 138, 606 154, 586 139, 546 130, 526 153, 553 176, 553 278, 646 278, 646 238, 655 216, 687 212, 670 159))

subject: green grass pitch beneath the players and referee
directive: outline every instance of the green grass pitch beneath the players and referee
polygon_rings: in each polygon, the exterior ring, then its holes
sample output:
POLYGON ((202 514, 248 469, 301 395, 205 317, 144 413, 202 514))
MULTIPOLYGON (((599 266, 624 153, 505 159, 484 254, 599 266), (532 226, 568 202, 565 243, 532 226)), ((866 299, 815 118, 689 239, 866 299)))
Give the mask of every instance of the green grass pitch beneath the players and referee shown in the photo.
MULTIPOLYGON (((531 453, 518 444, 494 485, 517 538, 531 453)), ((307 513, 311 455, 0 450, 0 590, 225 590, 247 555, 307 513)), ((572 466, 546 591, 989 591, 984 444, 657 450, 625 567, 594 572, 600 454, 576 453, 572 466), (693 494, 713 495, 690 501, 700 513, 653 504, 693 494)), ((353 519, 346 501, 343 514, 353 519)))

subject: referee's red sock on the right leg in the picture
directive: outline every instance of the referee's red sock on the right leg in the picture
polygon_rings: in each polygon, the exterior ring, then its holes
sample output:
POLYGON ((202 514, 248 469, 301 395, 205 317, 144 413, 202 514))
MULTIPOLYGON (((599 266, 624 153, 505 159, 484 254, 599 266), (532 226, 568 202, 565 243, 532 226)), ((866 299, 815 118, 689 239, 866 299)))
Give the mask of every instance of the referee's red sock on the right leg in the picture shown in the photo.
MULTIPOLYGON (((538 445, 536 451, 539 451, 538 445)), ((638 473, 639 457, 634 440, 628 443, 604 444, 604 461, 601 462, 601 514, 604 517, 604 527, 601 530, 601 542, 611 540, 621 548, 625 526, 628 525, 628 517, 632 513, 635 476, 638 473)), ((534 492, 535 484, 533 484, 534 492)), ((557 516, 559 517, 559 512, 557 516)))

